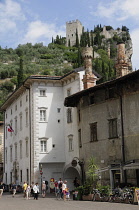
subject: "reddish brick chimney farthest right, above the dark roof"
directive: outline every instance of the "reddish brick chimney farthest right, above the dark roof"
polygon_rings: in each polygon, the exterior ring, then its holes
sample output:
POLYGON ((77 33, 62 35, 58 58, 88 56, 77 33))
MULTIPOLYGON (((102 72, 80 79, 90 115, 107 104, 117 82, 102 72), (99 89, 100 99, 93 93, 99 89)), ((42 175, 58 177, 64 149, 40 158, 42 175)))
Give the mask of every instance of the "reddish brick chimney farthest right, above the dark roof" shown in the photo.
POLYGON ((129 73, 128 63, 125 54, 125 43, 117 44, 117 62, 115 65, 116 77, 122 77, 129 73))

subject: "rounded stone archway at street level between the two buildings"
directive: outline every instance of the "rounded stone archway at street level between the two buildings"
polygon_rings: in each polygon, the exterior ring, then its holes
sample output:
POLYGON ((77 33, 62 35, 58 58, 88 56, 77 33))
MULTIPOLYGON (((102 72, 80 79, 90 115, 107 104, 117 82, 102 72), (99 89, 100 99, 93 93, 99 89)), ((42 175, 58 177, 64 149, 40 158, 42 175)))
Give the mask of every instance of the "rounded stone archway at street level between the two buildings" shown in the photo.
POLYGON ((67 166, 64 170, 64 180, 67 180, 67 186, 70 191, 74 190, 73 181, 77 177, 81 181, 80 169, 78 167, 67 166))

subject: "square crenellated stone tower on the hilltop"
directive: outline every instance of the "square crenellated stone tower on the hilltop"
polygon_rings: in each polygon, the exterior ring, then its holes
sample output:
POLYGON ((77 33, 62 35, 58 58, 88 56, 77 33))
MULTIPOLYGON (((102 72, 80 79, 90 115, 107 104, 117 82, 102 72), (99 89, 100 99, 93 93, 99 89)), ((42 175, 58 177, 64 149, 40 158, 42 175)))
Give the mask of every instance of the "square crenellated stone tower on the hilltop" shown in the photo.
POLYGON ((83 26, 79 20, 73 20, 66 22, 66 46, 68 47, 69 40, 70 40, 70 46, 73 46, 76 44, 76 29, 78 32, 78 39, 80 43, 80 38, 82 35, 82 29, 83 26))

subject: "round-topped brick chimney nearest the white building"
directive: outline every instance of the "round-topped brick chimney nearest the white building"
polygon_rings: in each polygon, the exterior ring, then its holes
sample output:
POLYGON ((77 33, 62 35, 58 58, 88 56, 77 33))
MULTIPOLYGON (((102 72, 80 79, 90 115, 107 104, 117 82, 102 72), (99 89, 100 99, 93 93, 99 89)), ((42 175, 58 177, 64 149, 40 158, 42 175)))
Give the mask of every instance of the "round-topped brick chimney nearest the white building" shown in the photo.
POLYGON ((84 89, 94 87, 96 85, 97 77, 92 72, 93 48, 84 47, 82 51, 84 60, 85 75, 83 75, 84 89))

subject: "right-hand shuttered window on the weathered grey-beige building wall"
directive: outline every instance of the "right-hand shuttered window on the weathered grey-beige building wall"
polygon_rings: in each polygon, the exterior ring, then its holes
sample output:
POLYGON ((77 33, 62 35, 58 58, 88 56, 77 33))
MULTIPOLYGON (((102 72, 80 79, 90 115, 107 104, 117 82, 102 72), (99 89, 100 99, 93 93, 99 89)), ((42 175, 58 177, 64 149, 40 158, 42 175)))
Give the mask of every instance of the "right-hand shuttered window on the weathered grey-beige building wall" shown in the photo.
POLYGON ((117 119, 109 120, 109 138, 117 138, 117 119))

